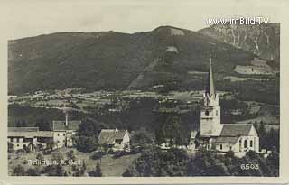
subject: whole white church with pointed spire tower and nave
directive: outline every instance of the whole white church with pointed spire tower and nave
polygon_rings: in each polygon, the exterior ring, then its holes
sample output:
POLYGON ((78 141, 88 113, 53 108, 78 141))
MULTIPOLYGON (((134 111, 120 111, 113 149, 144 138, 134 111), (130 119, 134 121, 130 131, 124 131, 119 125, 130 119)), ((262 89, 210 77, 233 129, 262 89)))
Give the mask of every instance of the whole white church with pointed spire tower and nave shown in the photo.
POLYGON ((233 151, 239 157, 250 150, 259 153, 259 137, 254 125, 221 124, 219 95, 214 87, 211 59, 203 105, 200 106, 200 132, 191 132, 191 143, 198 143, 199 149, 219 153, 233 151))

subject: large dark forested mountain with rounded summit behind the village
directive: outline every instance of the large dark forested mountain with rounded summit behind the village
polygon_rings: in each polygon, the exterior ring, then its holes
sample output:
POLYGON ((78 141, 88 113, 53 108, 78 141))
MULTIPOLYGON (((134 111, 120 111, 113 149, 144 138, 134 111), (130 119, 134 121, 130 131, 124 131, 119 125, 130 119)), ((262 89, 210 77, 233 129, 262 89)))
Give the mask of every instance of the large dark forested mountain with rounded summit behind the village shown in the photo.
POLYGON ((171 82, 178 82, 179 88, 202 88, 200 77, 191 74, 207 71, 211 51, 219 75, 256 58, 199 32, 172 26, 134 34, 52 33, 9 41, 8 50, 9 94, 73 87, 142 89, 171 82))

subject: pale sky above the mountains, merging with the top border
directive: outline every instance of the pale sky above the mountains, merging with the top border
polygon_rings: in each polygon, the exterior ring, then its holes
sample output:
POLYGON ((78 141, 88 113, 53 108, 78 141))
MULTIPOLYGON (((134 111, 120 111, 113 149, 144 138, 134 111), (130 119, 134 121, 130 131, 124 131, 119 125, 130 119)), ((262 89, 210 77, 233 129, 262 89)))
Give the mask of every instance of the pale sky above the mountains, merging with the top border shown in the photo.
MULTIPOLYGON (((8 39, 52 32, 147 32, 160 25, 191 31, 212 17, 264 16, 278 23, 277 5, 267 1, 220 0, 10 0, 0 7, 8 39)), ((281 1, 282 2, 282 1, 281 1)))

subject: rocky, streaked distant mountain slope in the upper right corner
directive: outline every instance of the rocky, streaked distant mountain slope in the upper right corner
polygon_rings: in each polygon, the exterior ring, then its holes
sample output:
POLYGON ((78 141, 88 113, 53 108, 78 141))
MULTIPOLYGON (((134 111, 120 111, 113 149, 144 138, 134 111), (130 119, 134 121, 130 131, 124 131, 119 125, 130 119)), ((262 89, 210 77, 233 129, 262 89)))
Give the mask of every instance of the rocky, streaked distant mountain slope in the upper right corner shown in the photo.
POLYGON ((256 25, 216 24, 202 29, 200 33, 219 42, 229 43, 237 48, 255 53, 276 69, 280 65, 280 24, 256 25))

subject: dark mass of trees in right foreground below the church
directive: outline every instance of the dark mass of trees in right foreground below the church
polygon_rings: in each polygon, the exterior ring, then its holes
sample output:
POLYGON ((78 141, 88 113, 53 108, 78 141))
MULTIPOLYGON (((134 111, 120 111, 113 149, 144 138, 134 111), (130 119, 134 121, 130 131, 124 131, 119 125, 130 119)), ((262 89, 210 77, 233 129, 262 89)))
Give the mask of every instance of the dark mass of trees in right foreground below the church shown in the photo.
POLYGON ((141 156, 126 169, 123 176, 278 176, 279 155, 272 153, 263 158, 248 152, 238 158, 233 152, 220 155, 201 151, 188 156, 180 149, 162 151, 156 147, 146 148, 141 156))

